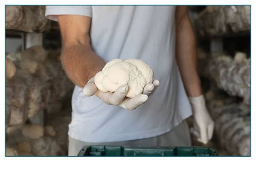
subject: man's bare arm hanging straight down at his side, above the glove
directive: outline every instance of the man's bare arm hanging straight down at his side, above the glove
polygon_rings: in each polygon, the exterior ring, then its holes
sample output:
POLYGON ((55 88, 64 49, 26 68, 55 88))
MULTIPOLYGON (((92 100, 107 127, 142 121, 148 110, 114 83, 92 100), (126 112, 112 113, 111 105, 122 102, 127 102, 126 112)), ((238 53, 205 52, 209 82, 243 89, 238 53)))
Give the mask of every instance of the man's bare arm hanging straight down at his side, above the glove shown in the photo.
POLYGON ((187 95, 200 96, 202 90, 197 71, 195 34, 188 15, 176 22, 176 59, 187 95))

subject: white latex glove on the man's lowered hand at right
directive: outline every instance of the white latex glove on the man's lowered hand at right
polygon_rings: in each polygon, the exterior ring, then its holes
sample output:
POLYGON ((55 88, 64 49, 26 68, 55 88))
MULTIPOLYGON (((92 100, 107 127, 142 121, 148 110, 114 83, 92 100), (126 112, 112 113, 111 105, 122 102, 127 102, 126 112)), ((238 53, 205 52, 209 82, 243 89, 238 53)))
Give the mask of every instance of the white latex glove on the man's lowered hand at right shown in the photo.
POLYGON ((194 118, 194 127, 191 128, 191 132, 197 137, 198 142, 206 144, 212 139, 214 122, 206 108, 204 95, 189 97, 189 102, 194 118))

